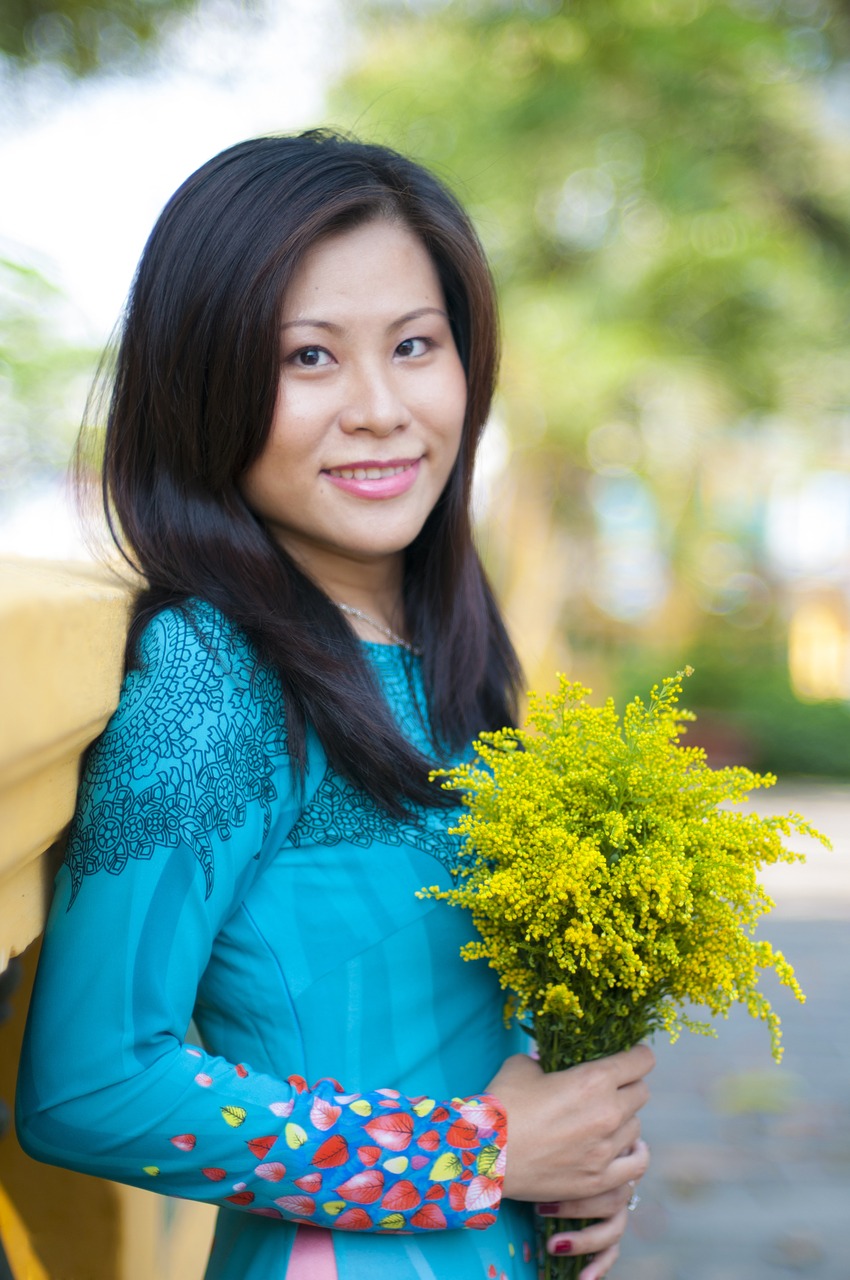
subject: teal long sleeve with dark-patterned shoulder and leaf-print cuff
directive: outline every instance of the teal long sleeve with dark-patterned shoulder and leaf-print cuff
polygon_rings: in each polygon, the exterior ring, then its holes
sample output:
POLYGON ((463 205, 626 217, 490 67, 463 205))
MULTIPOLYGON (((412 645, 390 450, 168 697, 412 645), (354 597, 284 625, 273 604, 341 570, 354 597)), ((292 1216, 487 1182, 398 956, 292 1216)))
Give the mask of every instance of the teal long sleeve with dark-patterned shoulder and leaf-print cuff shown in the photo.
POLYGON ((186 1042, 216 936, 303 796, 279 686, 219 614, 160 614, 140 658, 90 753, 56 881, 18 1087, 24 1149, 319 1226, 489 1226, 495 1100, 311 1087, 186 1042))

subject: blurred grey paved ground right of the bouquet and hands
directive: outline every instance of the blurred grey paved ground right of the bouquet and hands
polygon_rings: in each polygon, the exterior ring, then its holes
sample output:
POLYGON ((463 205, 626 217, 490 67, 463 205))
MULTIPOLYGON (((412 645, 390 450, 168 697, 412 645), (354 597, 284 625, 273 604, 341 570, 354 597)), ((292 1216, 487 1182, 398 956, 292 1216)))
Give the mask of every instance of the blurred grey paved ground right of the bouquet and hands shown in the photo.
POLYGON ((850 787, 774 788, 759 809, 800 812, 835 845, 769 877, 763 932, 808 1000, 766 983, 780 1068, 745 1014, 717 1041, 655 1046, 653 1165, 612 1280, 850 1280, 850 787))

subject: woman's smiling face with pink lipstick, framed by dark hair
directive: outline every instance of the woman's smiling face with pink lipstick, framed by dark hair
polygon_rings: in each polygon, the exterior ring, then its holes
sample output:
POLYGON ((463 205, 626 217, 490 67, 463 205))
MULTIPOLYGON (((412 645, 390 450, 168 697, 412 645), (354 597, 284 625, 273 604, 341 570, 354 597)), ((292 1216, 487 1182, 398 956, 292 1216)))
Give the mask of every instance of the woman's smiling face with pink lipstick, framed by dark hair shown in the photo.
POLYGON ((421 241, 384 219, 341 232, 287 291, 274 422, 242 492, 325 590, 356 582, 358 567, 397 571, 445 486, 465 411, 421 241))

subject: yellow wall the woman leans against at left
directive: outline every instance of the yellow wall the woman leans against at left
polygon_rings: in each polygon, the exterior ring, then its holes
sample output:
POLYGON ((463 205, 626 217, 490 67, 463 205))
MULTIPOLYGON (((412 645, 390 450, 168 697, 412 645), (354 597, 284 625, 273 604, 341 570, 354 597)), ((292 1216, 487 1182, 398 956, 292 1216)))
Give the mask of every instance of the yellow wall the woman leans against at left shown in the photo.
MULTIPOLYGON (((73 813, 81 754, 118 700, 131 594, 106 570, 0 561, 0 970, 22 956, 13 1018, 0 1025, 9 1108, 56 841, 73 813)), ((51 1280, 204 1272, 214 1222, 206 1206, 38 1165, 12 1132, 0 1137, 0 1189, 51 1280)), ((20 1248, 17 1240, 18 1257, 20 1248)))

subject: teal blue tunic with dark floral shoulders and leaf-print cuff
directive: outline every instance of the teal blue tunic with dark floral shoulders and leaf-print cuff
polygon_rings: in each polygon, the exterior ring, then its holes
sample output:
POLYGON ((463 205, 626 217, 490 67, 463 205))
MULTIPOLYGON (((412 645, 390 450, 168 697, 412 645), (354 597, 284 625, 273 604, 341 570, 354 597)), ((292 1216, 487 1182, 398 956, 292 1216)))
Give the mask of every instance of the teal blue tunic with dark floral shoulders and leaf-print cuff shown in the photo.
MULTIPOLYGON (((417 660, 364 648, 431 754, 417 660)), ((210 1280, 309 1280, 306 1242, 339 1280, 531 1280, 483 1092, 518 1046, 492 972, 460 959, 469 916, 417 897, 451 883, 445 827, 388 817, 315 736, 302 783, 246 640, 207 605, 161 613, 87 760, 24 1044, 24 1148, 221 1206, 210 1280)))

